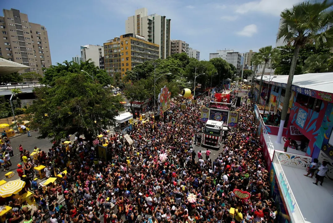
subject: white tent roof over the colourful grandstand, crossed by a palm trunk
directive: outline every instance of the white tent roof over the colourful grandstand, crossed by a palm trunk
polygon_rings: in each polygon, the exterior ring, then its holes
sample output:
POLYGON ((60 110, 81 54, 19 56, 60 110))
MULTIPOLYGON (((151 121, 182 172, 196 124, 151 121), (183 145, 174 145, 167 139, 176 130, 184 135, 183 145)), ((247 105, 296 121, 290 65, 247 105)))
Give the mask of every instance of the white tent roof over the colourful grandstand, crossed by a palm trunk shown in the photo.
MULTIPOLYGON (((277 75, 276 77, 273 77, 274 75, 271 75, 269 79, 269 75, 264 75, 262 80, 265 83, 268 83, 269 80, 271 80, 271 84, 273 85, 276 85, 276 83, 281 83, 282 85, 287 84, 288 75, 277 75)), ((260 81, 260 76, 256 79, 260 81)), ((333 72, 295 75, 292 85, 326 93, 333 93, 333 72)))

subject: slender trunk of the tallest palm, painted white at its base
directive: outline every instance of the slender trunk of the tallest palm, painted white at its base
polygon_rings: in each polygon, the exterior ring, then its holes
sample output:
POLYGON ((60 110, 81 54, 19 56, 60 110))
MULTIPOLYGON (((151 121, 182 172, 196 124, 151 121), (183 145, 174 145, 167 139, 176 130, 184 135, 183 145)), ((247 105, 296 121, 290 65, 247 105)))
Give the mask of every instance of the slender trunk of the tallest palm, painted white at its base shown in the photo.
POLYGON ((277 134, 277 139, 276 139, 277 143, 281 143, 283 126, 284 126, 284 122, 286 120, 287 113, 288 113, 291 85, 292 85, 292 81, 294 79, 295 67, 296 67, 296 62, 297 62, 297 57, 298 57, 298 52, 299 52, 300 47, 301 46, 299 46, 299 45, 295 46, 294 56, 292 57, 292 60, 291 60, 289 77, 288 77, 288 82, 287 82, 287 86, 286 86, 286 93, 284 95, 283 107, 282 107, 282 112, 281 112, 281 121, 280 121, 280 126, 279 126, 279 132, 277 134))

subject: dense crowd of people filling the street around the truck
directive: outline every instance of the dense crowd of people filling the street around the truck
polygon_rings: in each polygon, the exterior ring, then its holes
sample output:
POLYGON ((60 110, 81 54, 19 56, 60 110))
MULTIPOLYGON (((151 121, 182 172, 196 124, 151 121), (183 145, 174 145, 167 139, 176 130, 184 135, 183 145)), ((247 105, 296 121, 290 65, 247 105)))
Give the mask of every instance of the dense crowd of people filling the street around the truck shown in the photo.
POLYGON ((107 159, 98 158, 96 143, 80 138, 54 144, 47 153, 35 148, 38 159, 23 156, 18 174, 25 190, 34 191, 36 206, 5 198, 13 207, 8 222, 274 222, 269 174, 255 135, 253 104, 246 99, 237 129, 225 133, 224 147, 212 159, 203 147, 198 153, 205 158, 197 157, 194 146, 203 126, 200 108, 209 97, 198 97, 186 109, 180 109, 183 99, 174 100, 160 120, 137 122, 131 144, 122 134, 104 131, 95 140, 108 141, 107 159), (46 166, 46 177, 65 167, 67 174, 43 189, 32 171, 39 164, 46 166))

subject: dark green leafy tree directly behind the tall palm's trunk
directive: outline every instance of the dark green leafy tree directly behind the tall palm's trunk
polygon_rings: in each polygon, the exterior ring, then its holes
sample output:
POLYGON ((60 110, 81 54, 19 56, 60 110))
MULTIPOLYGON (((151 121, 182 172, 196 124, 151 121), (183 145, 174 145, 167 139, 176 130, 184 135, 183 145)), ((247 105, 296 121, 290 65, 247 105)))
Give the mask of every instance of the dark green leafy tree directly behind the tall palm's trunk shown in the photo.
MULTIPOLYGON (((278 47, 280 49, 280 62, 277 64, 274 73, 279 75, 288 75, 290 71, 292 57, 294 55, 295 46, 294 45, 286 45, 278 47)), ((330 52, 330 48, 327 47, 327 44, 323 46, 317 47, 313 43, 308 43, 302 46, 299 49, 299 53, 297 56, 296 67, 294 71, 294 75, 302 74, 302 67, 305 64, 305 60, 312 55, 322 55, 328 54, 332 55, 330 52)))

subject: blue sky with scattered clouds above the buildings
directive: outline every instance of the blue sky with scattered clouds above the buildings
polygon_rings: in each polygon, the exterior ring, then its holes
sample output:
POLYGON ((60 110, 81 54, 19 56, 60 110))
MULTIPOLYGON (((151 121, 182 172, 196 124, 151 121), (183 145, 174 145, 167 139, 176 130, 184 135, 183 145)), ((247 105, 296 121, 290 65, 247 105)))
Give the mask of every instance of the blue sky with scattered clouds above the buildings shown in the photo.
MULTIPOLYGON (((71 60, 80 46, 103 45, 125 34, 125 20, 138 8, 171 19, 171 39, 180 39, 208 60, 217 49, 275 46, 279 14, 300 0, 2 0, 1 8, 28 14, 48 31, 52 64, 71 60)), ((1 13, 2 14, 2 13, 1 13)))

